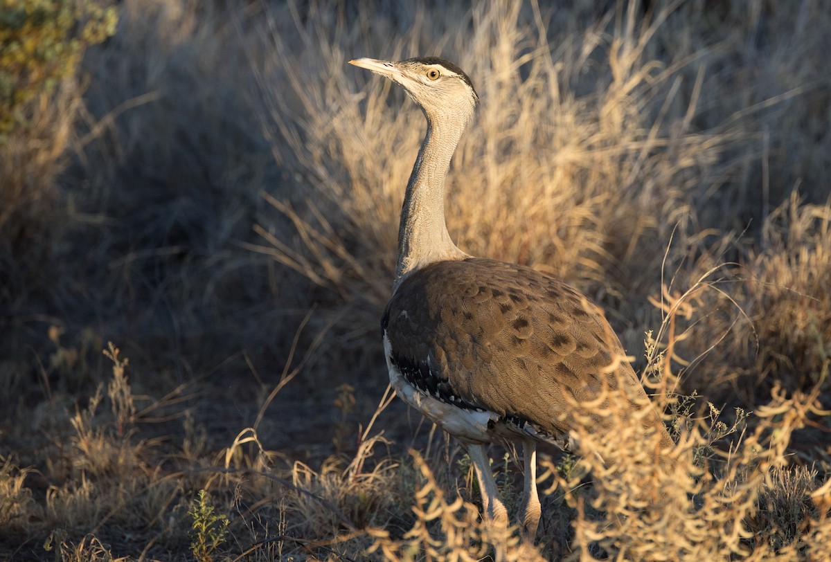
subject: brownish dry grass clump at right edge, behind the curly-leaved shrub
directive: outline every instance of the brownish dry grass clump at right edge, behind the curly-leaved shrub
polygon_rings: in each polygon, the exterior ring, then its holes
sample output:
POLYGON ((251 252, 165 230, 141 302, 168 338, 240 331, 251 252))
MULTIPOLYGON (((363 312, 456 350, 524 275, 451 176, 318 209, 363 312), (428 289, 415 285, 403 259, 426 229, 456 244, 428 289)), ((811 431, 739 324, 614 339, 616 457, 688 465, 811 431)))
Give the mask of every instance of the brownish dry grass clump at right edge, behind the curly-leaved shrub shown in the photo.
POLYGON ((827 392, 829 209, 828 203, 800 204, 793 193, 765 219, 760 247, 702 276, 706 281, 687 296, 711 313, 689 325, 681 346, 706 349, 713 335, 725 343, 692 361, 695 369, 682 375, 686 388, 707 384, 749 403, 777 381, 790 391, 823 384, 827 392))

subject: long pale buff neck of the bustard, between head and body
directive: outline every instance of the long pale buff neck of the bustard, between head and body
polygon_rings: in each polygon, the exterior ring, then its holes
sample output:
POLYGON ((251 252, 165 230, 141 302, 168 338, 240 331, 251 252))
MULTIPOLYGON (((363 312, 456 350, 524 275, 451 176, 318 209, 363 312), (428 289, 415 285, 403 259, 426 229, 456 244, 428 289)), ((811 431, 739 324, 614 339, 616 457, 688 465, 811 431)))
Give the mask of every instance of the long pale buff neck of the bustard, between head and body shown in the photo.
POLYGON ((464 123, 439 127, 427 121, 427 134, 401 208, 396 287, 403 276, 419 267, 467 257, 450 240, 445 224, 445 178, 464 130, 464 123))

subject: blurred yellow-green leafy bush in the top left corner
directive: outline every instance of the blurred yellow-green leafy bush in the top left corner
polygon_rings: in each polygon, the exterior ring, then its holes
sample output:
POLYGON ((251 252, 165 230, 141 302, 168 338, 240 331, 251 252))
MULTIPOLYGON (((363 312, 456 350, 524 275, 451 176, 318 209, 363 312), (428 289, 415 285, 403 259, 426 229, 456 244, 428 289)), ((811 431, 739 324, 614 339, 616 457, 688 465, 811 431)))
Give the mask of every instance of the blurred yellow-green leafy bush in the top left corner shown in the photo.
POLYGON ((0 144, 25 129, 41 96, 71 76, 87 46, 116 32, 115 7, 93 0, 2 0, 0 144))

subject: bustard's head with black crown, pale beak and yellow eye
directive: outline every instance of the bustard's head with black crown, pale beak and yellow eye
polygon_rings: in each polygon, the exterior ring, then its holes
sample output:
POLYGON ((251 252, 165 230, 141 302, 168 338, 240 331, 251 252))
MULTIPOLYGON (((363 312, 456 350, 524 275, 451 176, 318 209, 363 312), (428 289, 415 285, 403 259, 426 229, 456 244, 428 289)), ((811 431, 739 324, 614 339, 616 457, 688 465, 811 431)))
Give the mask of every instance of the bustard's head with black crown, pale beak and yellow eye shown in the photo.
POLYGON ((366 68, 396 82, 406 91, 433 124, 462 121, 467 125, 479 102, 479 95, 462 69, 438 56, 421 56, 406 61, 376 61, 361 58, 349 64, 366 68))

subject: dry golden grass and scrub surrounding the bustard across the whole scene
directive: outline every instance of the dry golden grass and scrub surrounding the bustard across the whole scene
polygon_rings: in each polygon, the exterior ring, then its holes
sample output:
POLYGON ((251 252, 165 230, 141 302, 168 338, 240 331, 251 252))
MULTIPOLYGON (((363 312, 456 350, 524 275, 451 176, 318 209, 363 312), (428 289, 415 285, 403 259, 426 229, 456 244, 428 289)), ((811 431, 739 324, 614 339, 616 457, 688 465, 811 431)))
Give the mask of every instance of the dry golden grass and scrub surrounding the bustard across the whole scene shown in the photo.
POLYGON ((120 2, 2 148, 0 559, 831 558, 824 2, 301 3, 120 2), (346 61, 416 54, 482 102, 451 236, 603 305, 678 441, 543 455, 534 546, 381 398, 425 124, 346 61))

